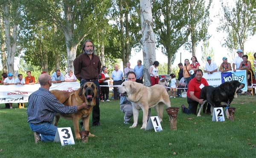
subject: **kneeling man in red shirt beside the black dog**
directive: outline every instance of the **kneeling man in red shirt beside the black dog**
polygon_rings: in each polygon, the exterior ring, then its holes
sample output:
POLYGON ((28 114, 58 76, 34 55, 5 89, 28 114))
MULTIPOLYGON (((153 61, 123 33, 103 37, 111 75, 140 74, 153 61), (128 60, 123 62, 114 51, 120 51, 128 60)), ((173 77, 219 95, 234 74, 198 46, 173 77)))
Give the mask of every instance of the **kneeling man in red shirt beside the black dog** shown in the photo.
POLYGON ((186 108, 185 105, 181 105, 183 113, 193 113, 196 115, 198 104, 203 104, 204 102, 203 99, 200 99, 201 89, 208 85, 207 80, 203 78, 203 71, 201 69, 195 71, 195 78, 190 80, 187 90, 187 102, 189 107, 186 108))

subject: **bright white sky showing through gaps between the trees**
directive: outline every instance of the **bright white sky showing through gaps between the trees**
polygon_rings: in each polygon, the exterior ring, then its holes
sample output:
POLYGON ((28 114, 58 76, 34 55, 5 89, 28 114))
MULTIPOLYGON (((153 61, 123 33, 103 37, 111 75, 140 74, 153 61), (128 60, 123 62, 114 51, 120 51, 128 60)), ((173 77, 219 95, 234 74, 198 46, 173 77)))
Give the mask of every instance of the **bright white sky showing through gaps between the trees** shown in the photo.
MULTIPOLYGON (((233 1, 228 1, 229 4, 232 5, 233 1)), ((211 8, 210 8, 210 19, 212 20, 211 24, 209 25, 208 28, 208 33, 211 35, 211 38, 209 39, 209 48, 213 48, 214 51, 214 62, 217 65, 220 65, 222 62, 222 57, 226 56, 228 58, 228 62, 232 62, 232 56, 229 56, 229 50, 222 46, 223 43, 223 38, 224 38, 224 33, 218 32, 217 27, 219 26, 219 17, 216 16, 219 14, 221 11, 221 5, 219 0, 213 0, 211 8)), ((253 37, 249 37, 247 39, 247 42, 244 44, 244 53, 246 52, 256 52, 256 47, 255 47, 255 41, 256 41, 256 35, 253 37)), ((201 65, 205 65, 205 63, 202 63, 201 61, 201 45, 202 42, 200 42, 197 46, 197 51, 196 51, 196 56, 198 59, 198 62, 201 65)), ((189 53, 189 51, 186 51, 183 47, 181 47, 176 54, 176 59, 174 62, 174 67, 177 66, 177 64, 180 62, 180 53, 181 53, 181 62, 184 63, 185 59, 191 59, 192 55, 189 53)), ((131 51, 131 68, 134 68, 135 65, 137 65, 137 60, 141 59, 143 61, 143 53, 142 51, 140 52, 135 52, 134 50, 131 51)), ((19 64, 19 57, 15 57, 15 70, 18 70, 18 64, 19 64)), ((156 49, 156 60, 160 62, 161 64, 167 63, 168 59, 167 56, 163 55, 161 52, 160 48, 156 49)), ((191 61, 190 61, 191 62, 191 61)), ((0 65, 1 66, 1 65, 0 65)), ((123 70, 122 68, 122 63, 120 63, 120 70, 123 70)))

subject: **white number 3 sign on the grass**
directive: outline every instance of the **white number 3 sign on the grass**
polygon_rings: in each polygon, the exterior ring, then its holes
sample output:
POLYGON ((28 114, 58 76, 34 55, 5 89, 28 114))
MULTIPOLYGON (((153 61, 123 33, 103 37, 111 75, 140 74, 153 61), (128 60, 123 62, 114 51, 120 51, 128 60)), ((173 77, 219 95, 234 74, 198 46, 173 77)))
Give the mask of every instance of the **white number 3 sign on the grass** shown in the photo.
POLYGON ((75 144, 72 130, 70 127, 58 128, 54 138, 54 142, 61 142, 61 145, 75 144))

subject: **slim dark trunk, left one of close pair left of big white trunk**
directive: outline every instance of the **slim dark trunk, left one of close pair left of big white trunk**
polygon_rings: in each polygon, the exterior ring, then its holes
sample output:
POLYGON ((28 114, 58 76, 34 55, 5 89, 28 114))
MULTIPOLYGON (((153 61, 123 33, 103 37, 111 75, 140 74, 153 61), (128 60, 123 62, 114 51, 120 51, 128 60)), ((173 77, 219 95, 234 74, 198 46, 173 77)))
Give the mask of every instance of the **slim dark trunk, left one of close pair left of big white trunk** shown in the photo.
POLYGON ((123 22, 123 9, 122 9, 123 1, 119 0, 119 9, 120 9, 120 31, 121 31, 121 53, 122 53, 122 62, 123 68, 126 67, 125 61, 125 43, 124 43, 124 22, 123 22))

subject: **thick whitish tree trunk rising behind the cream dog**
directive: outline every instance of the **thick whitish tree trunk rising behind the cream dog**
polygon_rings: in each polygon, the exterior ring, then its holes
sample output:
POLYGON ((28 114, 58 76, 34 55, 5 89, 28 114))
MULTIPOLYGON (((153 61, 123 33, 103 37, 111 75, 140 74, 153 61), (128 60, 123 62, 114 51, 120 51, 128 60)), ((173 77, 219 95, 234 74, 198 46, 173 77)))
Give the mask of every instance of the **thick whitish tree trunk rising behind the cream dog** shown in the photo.
POLYGON ((144 85, 150 86, 150 65, 156 60, 155 37, 151 12, 151 0, 140 0, 140 20, 143 32, 143 65, 144 85))

